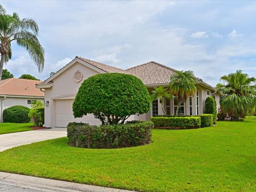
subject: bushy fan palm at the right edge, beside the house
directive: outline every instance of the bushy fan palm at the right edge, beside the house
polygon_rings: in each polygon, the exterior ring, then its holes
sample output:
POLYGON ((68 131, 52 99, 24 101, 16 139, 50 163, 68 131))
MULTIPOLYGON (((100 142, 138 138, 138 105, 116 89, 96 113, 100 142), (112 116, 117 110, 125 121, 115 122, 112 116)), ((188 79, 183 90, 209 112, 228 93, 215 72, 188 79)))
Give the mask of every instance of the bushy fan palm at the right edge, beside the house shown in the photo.
POLYGON ((217 92, 222 94, 220 105, 224 113, 238 119, 252 113, 256 105, 255 78, 242 70, 220 77, 224 84, 218 83, 217 92))

